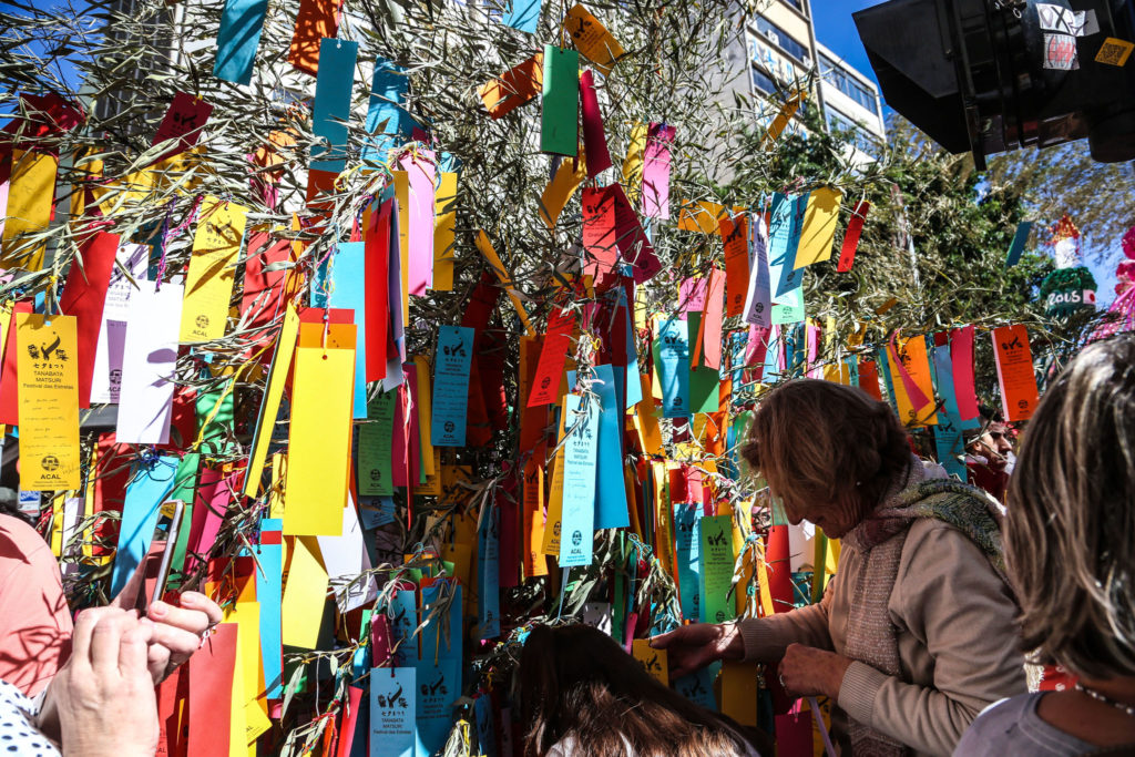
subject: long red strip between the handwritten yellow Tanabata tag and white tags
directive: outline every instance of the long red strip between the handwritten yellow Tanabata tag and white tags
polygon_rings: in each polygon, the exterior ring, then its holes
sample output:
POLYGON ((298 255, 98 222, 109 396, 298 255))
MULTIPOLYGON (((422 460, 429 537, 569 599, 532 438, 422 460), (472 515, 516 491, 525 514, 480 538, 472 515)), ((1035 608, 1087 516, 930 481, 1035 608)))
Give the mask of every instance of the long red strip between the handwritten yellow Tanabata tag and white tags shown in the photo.
POLYGON ((91 377, 94 376, 94 353, 99 345, 102 306, 107 301, 110 274, 115 269, 118 235, 99 232, 86 238, 78 261, 67 272, 67 284, 59 297, 59 310, 75 317, 77 333, 76 355, 78 365, 78 406, 91 406, 91 377))

